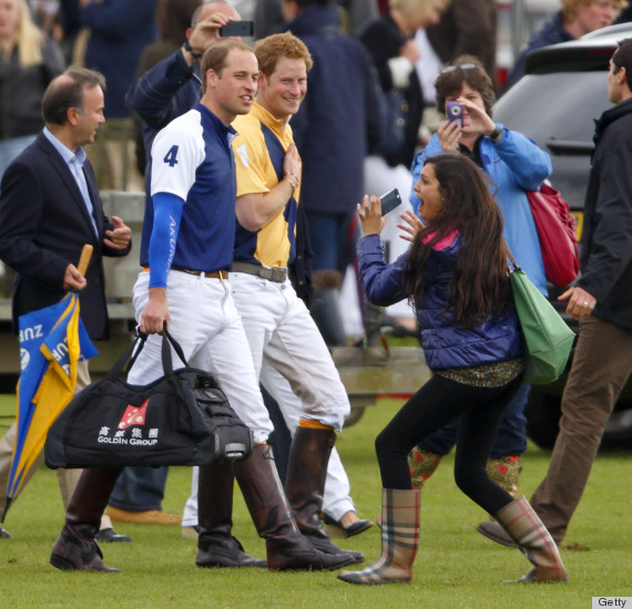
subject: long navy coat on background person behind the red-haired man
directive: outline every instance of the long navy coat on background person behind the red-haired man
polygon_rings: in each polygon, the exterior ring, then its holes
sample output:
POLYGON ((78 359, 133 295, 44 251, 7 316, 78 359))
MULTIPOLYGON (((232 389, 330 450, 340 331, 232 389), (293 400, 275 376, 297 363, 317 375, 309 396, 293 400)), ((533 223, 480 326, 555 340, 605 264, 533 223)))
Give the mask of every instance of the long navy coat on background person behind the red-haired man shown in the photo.
POLYGON ((290 125, 303 159, 306 211, 348 214, 363 195, 364 159, 385 128, 376 70, 363 43, 338 31, 335 6, 309 6, 288 24, 312 53, 307 96, 290 125))

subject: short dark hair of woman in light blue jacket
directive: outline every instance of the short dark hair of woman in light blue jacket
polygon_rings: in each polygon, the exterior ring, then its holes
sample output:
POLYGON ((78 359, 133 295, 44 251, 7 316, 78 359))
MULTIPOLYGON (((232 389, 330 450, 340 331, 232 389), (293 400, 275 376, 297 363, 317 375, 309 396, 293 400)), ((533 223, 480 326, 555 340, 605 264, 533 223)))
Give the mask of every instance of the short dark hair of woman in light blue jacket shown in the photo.
POLYGON ((492 107, 496 103, 493 82, 485 71, 480 60, 473 55, 460 55, 444 68, 435 82, 437 110, 444 114, 446 112, 446 97, 458 93, 463 83, 468 83, 469 86, 480 93, 485 111, 491 117, 492 107))

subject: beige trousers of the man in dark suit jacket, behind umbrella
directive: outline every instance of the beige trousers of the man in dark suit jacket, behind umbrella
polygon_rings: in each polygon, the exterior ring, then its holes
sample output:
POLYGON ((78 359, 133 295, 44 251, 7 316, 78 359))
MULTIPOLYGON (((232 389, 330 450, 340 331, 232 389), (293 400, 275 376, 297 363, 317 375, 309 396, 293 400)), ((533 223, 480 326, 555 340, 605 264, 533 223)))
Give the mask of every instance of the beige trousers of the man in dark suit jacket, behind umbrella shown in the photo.
MULTIPOLYGON (((77 370, 77 388, 74 390, 75 393, 79 393, 83 388, 90 384, 90 373, 88 372, 88 362, 79 362, 78 370, 77 370)), ((9 479, 9 474, 11 472, 11 462, 13 455, 13 443, 16 441, 16 431, 17 424, 13 423, 4 436, 0 438, 0 515, 4 510, 4 505, 7 503, 7 482, 9 479)), ((44 453, 43 451, 39 454, 38 458, 35 460, 33 466, 28 472, 27 476, 24 477, 24 483, 22 484, 22 489, 29 483, 31 476, 37 472, 37 469, 42 465, 44 462, 44 453)), ((70 498, 74 493, 74 488, 77 483, 79 482, 79 476, 81 476, 81 469, 57 469, 57 477, 59 482, 59 489, 61 492, 61 499, 63 502, 64 509, 68 507, 70 503, 70 498)), ((22 491, 20 489, 20 492, 22 491)), ((16 498, 19 496, 16 495, 13 497, 13 503, 16 498)), ((11 504, 13 506, 13 503, 11 504)), ((11 514, 11 510, 9 512, 11 514)), ((101 528, 108 528, 112 526, 112 522, 110 520, 109 516, 103 516, 101 519, 101 528)))

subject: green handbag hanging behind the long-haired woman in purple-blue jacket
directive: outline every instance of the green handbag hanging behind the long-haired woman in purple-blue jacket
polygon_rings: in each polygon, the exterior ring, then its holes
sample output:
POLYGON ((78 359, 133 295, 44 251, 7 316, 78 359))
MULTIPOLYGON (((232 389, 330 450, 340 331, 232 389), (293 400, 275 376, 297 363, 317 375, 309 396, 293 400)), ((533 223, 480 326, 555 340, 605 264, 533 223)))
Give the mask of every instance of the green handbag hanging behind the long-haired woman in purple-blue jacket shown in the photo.
POLYGON ((517 265, 509 271, 518 319, 524 336, 523 383, 544 385, 564 371, 575 333, 517 265))

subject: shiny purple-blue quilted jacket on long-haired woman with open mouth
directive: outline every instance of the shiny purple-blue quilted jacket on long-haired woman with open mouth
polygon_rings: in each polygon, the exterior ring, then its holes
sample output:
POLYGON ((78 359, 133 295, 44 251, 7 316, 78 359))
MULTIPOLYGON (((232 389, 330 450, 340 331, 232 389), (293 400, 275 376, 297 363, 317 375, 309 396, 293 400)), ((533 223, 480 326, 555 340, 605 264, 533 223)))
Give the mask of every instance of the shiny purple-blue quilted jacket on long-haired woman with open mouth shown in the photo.
MULTIPOLYGON (((432 249, 424 273, 426 288, 416 307, 421 347, 430 370, 469 368, 522 355, 522 334, 513 308, 473 328, 453 326, 446 306, 459 244, 457 237, 444 249, 432 249)), ((387 265, 377 235, 363 237, 357 255, 360 281, 371 302, 387 307, 406 298, 401 279, 406 255, 387 265)))

